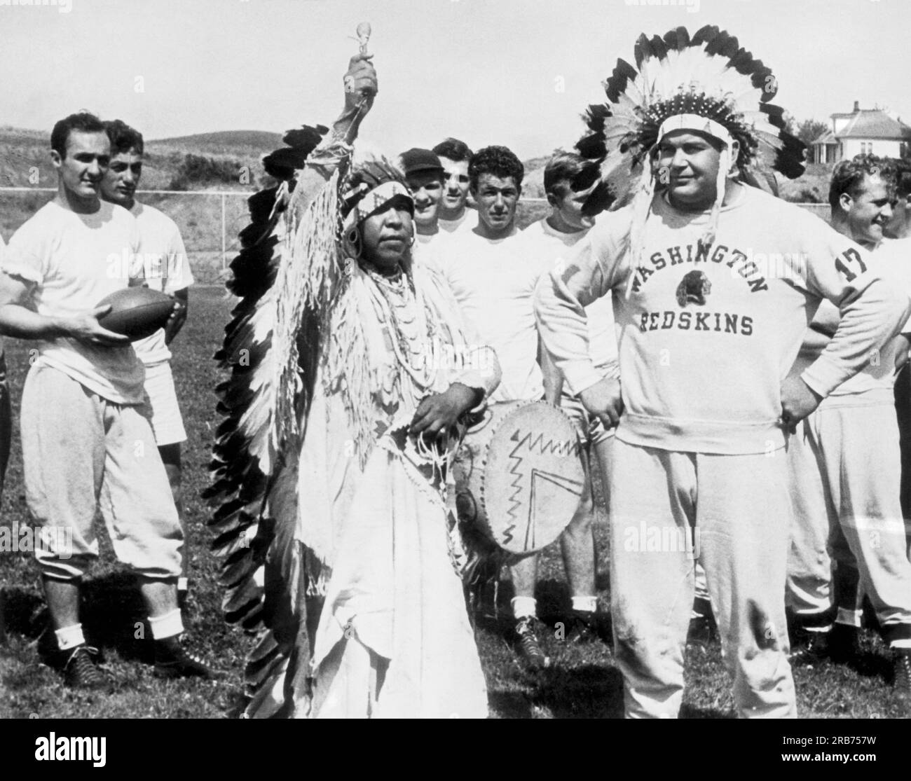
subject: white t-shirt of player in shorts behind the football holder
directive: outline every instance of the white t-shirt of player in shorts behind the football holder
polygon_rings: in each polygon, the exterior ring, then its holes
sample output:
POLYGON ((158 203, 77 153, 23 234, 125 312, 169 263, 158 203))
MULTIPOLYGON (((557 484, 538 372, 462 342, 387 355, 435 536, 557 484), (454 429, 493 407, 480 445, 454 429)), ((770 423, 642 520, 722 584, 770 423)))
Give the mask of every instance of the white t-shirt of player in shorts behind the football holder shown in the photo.
MULTIPOLYGON (((148 287, 173 295, 193 284, 187 249, 177 223, 159 209, 136 201, 130 214, 139 228, 139 255, 148 287)), ((133 349, 146 366, 170 360, 165 330, 159 329, 146 339, 133 342, 133 349)))

